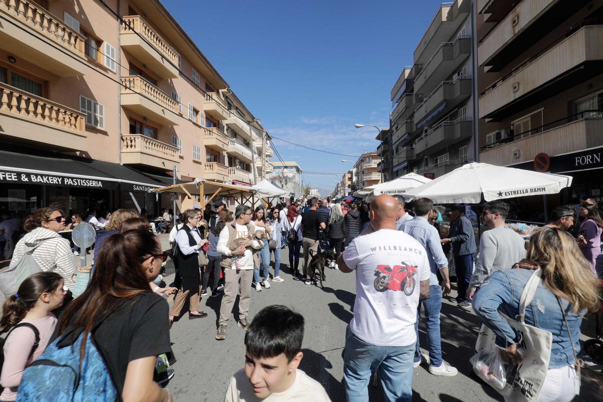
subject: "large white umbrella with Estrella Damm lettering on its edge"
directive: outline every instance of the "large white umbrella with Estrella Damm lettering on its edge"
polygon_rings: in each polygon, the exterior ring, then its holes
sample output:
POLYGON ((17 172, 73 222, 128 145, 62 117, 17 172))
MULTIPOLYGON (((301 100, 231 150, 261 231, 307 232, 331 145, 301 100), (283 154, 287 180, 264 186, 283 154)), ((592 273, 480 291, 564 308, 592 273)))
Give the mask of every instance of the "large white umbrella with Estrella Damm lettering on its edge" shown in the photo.
POLYGON ((557 194, 572 185, 572 176, 540 173, 472 162, 405 194, 434 203, 479 203, 513 197, 557 194))

